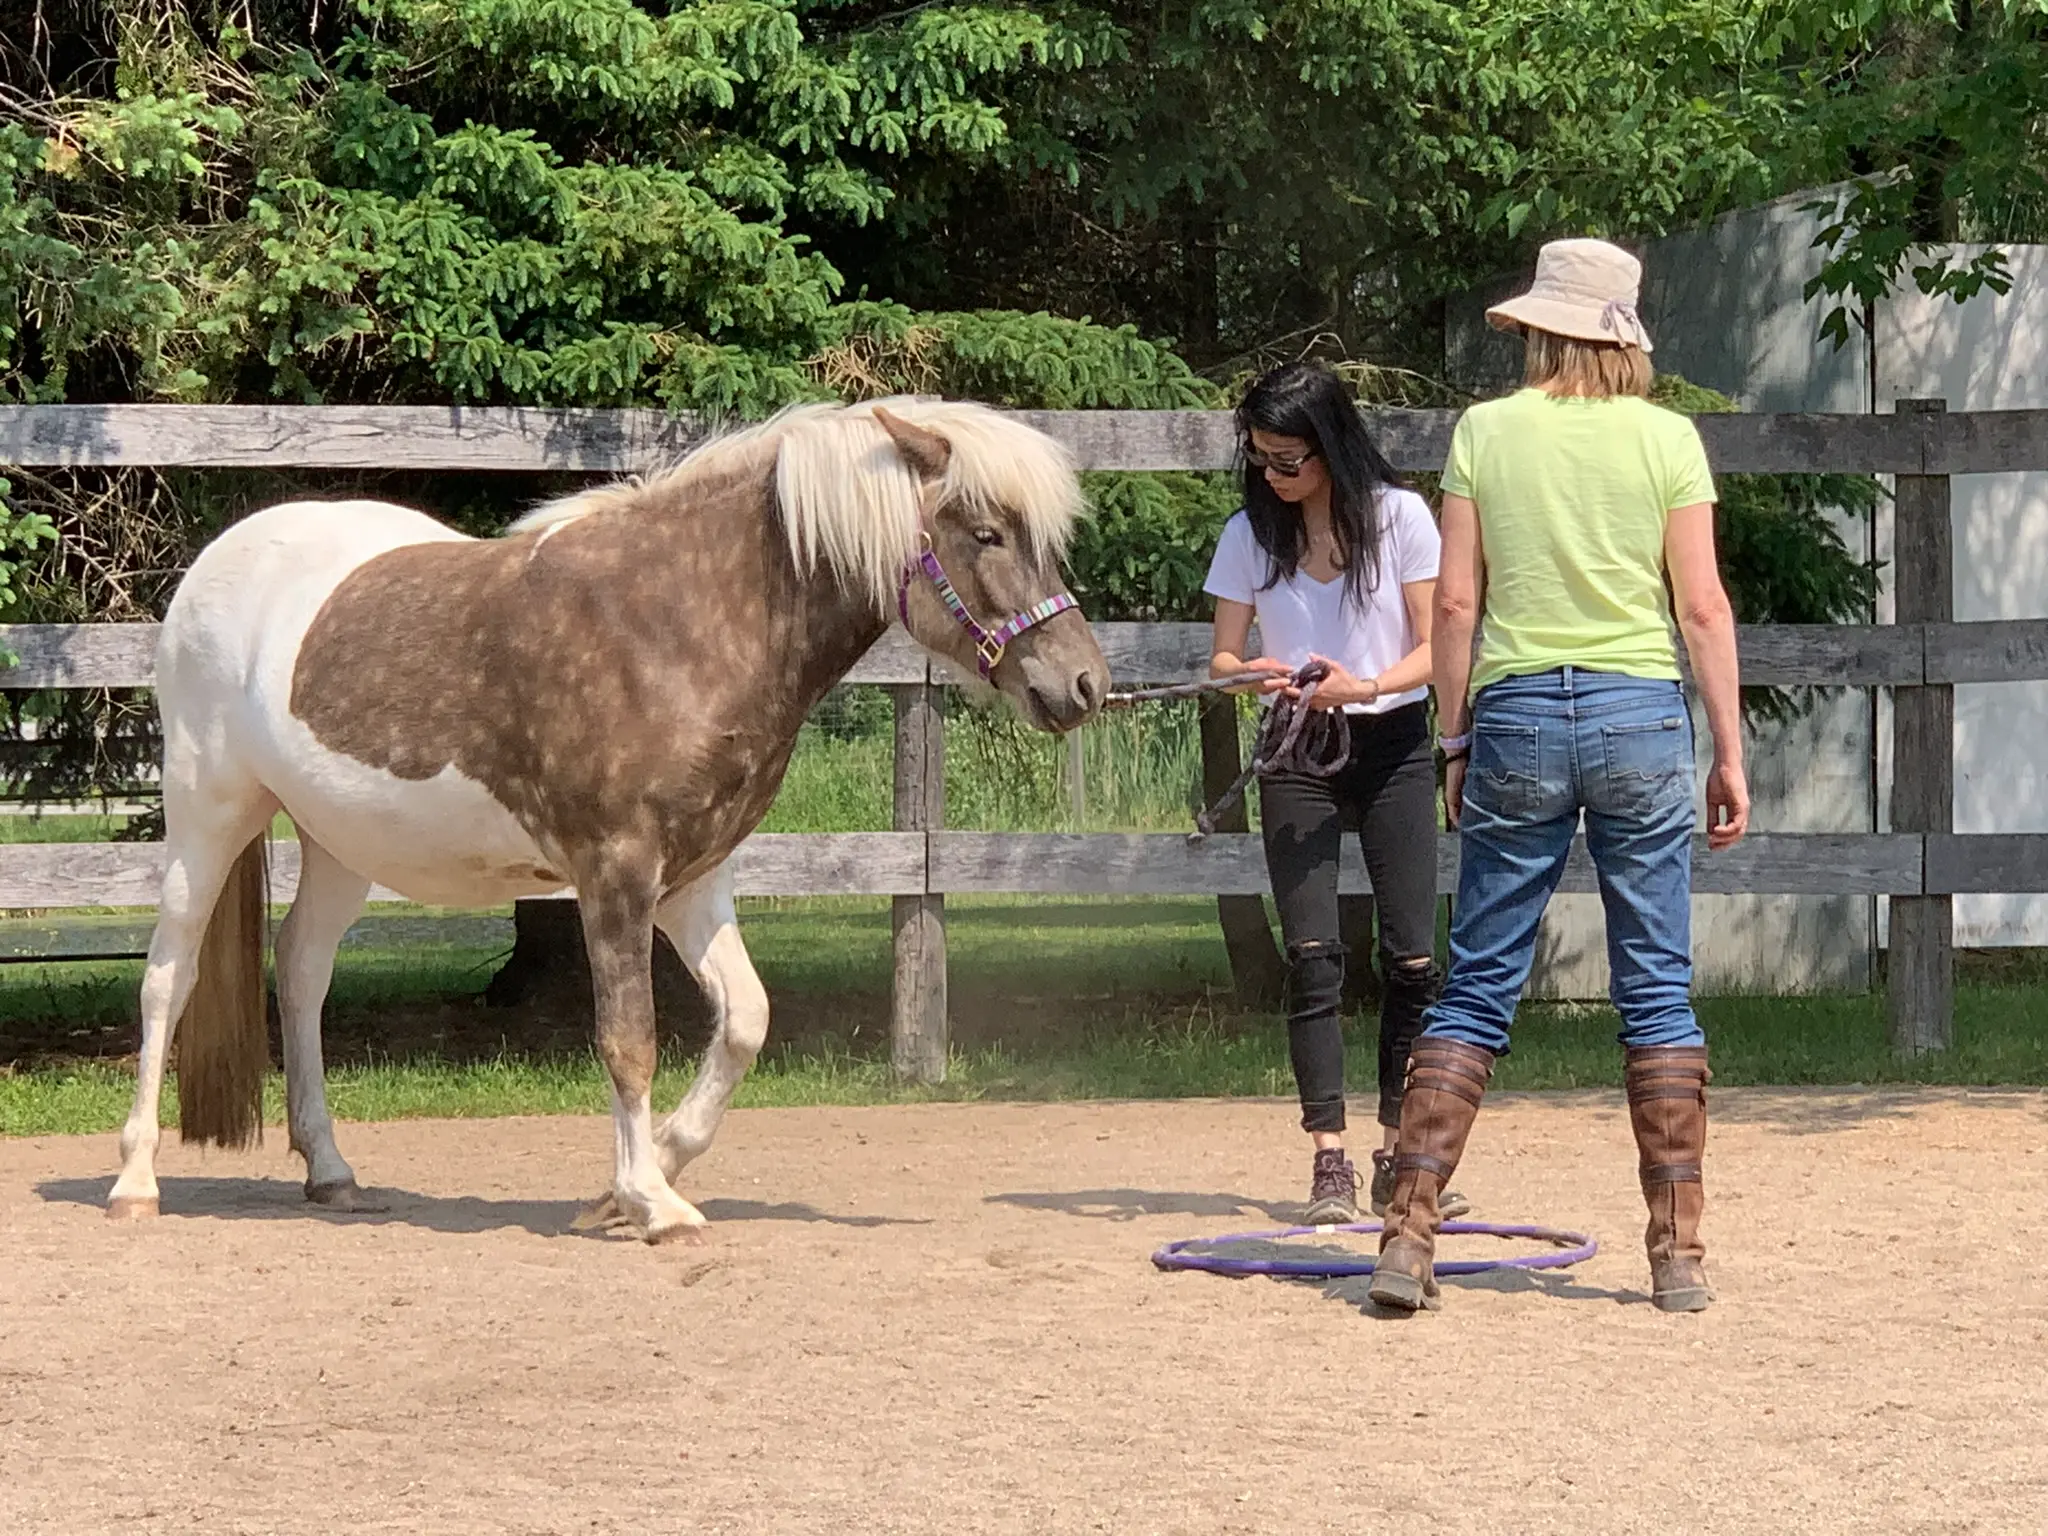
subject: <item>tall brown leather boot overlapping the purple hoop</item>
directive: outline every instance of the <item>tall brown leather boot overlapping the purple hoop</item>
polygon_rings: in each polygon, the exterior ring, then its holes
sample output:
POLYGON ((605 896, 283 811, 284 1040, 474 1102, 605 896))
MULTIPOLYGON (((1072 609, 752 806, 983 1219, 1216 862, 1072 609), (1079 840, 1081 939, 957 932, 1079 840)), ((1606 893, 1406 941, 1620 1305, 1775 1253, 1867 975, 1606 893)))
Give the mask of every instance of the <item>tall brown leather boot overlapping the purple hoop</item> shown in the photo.
POLYGON ((1368 1294, 1382 1307, 1413 1313, 1440 1305, 1436 1233, 1438 1196, 1458 1171, 1473 1116, 1493 1079, 1493 1053, 1462 1040, 1423 1036, 1409 1055, 1401 1135, 1395 1141, 1395 1192, 1380 1227, 1380 1257, 1368 1294))

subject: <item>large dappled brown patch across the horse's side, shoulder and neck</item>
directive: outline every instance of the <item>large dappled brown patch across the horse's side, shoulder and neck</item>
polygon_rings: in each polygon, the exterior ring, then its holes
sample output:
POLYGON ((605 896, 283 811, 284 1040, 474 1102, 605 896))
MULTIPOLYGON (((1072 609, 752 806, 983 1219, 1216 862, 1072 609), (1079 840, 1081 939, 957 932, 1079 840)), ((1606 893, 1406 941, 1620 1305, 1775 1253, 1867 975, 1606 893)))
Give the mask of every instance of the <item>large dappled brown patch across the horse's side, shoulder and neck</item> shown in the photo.
POLYGON ((694 879, 885 625, 795 569, 772 442, 635 500, 367 561, 307 629, 293 715, 399 778, 477 780, 578 885, 621 840, 662 887, 694 879))

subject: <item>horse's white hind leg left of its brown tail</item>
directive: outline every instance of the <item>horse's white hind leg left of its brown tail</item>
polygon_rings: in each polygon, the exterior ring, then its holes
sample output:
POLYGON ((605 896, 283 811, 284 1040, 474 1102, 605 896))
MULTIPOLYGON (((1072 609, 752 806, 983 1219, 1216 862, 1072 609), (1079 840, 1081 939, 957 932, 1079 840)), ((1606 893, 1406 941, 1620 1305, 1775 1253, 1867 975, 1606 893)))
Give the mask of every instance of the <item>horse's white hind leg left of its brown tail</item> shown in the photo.
POLYGON ((164 885, 158 895, 150 963, 141 977, 141 1055, 135 1063, 135 1102, 121 1128, 121 1178, 106 1198, 115 1221, 154 1217, 158 1210, 156 1147, 158 1102, 164 1092, 164 1059, 170 1032, 193 995, 199 950, 207 922, 236 858, 262 836, 276 815, 276 799, 233 770, 205 776, 197 788, 190 774, 178 774, 174 748, 166 750, 164 772, 164 885))

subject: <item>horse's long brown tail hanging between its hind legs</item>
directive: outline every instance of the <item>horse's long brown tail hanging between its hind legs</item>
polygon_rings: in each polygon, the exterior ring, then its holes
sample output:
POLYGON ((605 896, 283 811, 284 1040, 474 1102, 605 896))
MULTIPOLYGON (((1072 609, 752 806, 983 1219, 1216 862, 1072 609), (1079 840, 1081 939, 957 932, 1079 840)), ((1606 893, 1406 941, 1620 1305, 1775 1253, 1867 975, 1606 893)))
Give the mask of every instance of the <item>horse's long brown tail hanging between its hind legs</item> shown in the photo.
POLYGON ((270 1067, 262 944, 270 918, 268 836, 236 858, 221 887, 199 973, 178 1020, 178 1139, 217 1147, 262 1141, 270 1067))

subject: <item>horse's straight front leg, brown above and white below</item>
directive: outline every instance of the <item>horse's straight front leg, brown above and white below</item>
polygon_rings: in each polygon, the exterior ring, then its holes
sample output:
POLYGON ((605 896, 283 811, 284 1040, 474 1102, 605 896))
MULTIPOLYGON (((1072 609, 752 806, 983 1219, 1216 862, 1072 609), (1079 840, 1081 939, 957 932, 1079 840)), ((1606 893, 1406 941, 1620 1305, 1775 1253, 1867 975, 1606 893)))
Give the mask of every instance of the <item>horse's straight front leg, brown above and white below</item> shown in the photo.
POLYGON ((676 1194, 653 1145, 653 893, 578 881, 596 991, 598 1055, 612 1075, 612 1200, 649 1243, 696 1237, 705 1214, 676 1194))

